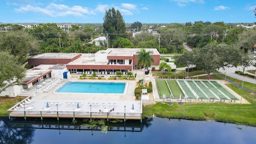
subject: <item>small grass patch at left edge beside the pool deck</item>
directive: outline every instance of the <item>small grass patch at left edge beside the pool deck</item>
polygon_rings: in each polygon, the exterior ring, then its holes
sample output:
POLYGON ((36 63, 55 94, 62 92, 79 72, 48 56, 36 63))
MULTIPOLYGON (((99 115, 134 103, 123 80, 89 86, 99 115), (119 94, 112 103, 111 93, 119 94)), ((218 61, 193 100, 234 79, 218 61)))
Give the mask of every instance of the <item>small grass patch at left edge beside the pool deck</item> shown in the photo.
MULTIPOLYGON (((21 98, 24 99, 26 97, 21 96, 21 98)), ((7 110, 18 102, 20 102, 20 98, 18 96, 16 98, 0 97, 0 116, 8 116, 7 110)))

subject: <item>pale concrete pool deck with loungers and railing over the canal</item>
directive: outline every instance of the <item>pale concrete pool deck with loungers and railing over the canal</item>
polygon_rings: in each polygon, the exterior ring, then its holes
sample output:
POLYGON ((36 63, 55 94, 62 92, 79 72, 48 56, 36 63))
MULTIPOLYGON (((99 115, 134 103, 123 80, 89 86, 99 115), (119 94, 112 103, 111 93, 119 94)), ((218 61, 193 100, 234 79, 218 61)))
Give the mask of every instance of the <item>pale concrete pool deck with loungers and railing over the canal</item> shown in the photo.
MULTIPOLYGON (((52 80, 54 81, 54 80, 52 80)), ((76 76, 71 79, 63 80, 57 84, 52 90, 43 92, 43 88, 50 85, 46 84, 41 89, 34 87, 28 90, 29 92, 38 91, 39 94, 30 97, 34 100, 31 103, 26 103, 26 117, 58 117, 58 118, 116 118, 116 119, 138 119, 142 118, 142 103, 135 100, 134 89, 136 80, 80 80, 76 76), (94 94, 94 93, 54 93, 66 81, 70 82, 127 82, 124 94, 94 94), (46 108, 46 104, 50 108, 46 108), (77 107, 77 103, 79 107, 77 107), (57 106, 58 104, 58 106, 57 106), (134 110, 132 110, 132 105, 134 110), (58 110, 57 110, 58 107, 58 110), (114 111, 108 112, 114 108, 114 111), (50 109, 50 110, 48 110, 50 109), (103 110, 104 112, 99 112, 103 110), (126 113, 126 114, 124 114, 126 113)), ((29 98, 29 97, 28 97, 29 98)), ((25 98, 24 100, 28 99, 25 98)), ((22 100, 22 101, 24 101, 22 100)), ((24 117, 24 107, 14 110, 14 107, 19 106, 20 102, 9 109, 10 117, 24 117)))

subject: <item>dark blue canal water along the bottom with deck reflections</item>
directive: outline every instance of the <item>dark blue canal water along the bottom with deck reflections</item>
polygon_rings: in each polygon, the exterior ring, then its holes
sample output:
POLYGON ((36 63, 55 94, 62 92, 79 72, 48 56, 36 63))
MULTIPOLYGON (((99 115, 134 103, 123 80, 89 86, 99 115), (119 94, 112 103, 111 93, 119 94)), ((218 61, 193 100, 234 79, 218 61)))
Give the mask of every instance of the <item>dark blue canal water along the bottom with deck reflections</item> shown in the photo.
MULTIPOLYGON (((98 120, 96 120, 98 121, 98 120)), ((87 121, 88 122, 88 121, 87 121)), ((0 118, 3 144, 253 144, 256 128, 214 121, 144 118, 104 126, 60 120, 0 118), (105 130, 102 130, 103 127, 105 130)), ((90 123, 92 124, 92 123, 90 123)))

